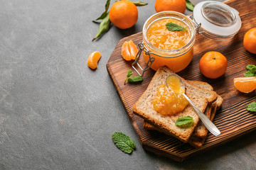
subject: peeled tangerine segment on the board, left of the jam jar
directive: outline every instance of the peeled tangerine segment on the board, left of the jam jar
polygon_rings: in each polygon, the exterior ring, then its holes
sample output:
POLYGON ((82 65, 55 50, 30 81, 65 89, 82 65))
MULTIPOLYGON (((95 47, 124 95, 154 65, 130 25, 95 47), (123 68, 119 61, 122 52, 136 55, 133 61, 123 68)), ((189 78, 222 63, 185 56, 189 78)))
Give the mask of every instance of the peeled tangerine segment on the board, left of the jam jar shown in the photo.
POLYGON ((124 58, 124 60, 135 60, 137 53, 137 46, 132 40, 124 42, 124 44, 122 45, 122 57, 124 58))

